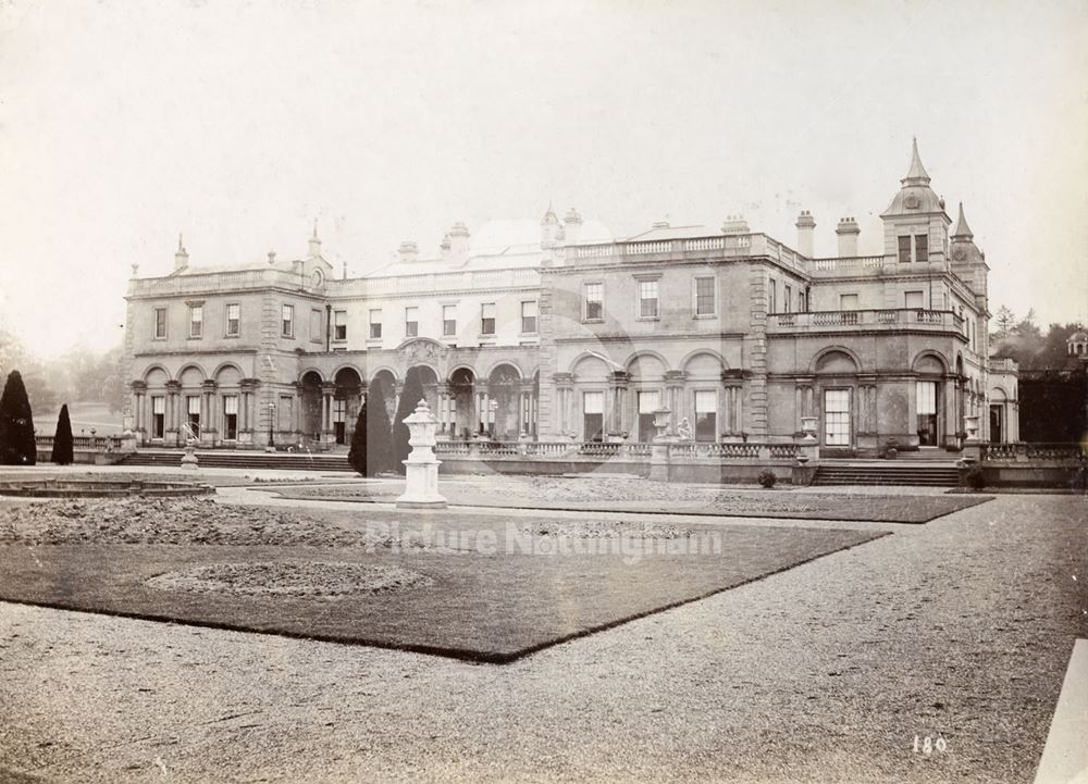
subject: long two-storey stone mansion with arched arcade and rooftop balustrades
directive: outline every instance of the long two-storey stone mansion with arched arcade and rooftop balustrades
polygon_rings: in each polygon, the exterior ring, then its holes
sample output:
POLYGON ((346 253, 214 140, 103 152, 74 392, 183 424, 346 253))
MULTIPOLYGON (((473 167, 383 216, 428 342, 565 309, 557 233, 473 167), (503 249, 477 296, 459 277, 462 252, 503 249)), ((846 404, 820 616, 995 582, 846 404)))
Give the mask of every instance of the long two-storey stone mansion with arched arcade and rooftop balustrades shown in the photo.
POLYGON ((879 256, 845 217, 839 254, 814 258, 808 212, 788 247, 737 217, 602 241, 549 208, 531 244, 477 247, 458 223, 437 257, 404 242, 354 278, 317 228, 298 260, 195 266, 180 241, 171 274, 128 285, 126 427, 144 446, 332 447, 374 385, 392 414, 416 368, 452 440, 646 443, 663 408, 696 443, 792 443, 808 416, 823 448, 860 455, 1016 440, 985 256, 929 183, 915 146, 879 256))

